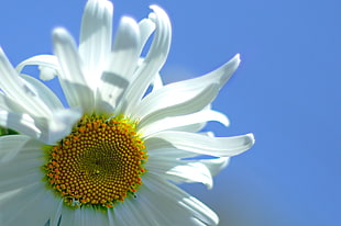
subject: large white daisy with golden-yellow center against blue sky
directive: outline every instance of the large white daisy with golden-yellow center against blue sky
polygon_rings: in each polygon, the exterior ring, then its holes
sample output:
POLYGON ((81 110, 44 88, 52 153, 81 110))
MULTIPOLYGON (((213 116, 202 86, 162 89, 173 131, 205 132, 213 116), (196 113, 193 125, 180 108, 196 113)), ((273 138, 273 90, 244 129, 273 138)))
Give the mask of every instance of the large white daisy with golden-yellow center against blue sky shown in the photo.
POLYGON ((151 10, 139 23, 122 18, 112 42, 112 4, 89 0, 79 46, 58 27, 54 55, 34 56, 14 69, 0 50, 0 126, 20 133, 0 137, 0 225, 218 224, 209 207, 176 183, 210 189, 229 157, 254 144, 252 134, 200 133, 208 121, 229 124, 210 103, 240 58, 164 86, 158 71, 170 23, 160 7, 151 10), (42 79, 56 75, 67 104, 22 75, 26 65, 38 66, 42 79))

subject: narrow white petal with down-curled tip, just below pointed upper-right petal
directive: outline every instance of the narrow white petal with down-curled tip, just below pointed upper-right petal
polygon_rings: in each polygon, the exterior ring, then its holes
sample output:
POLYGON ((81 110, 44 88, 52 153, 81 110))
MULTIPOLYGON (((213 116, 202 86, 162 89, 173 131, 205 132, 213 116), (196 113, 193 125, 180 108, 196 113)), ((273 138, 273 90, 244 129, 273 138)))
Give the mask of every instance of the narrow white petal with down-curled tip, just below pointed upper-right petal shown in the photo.
POLYGON ((182 116, 174 116, 174 117, 165 117, 154 123, 151 123, 144 127, 141 127, 140 131, 143 133, 143 136, 148 136, 153 133, 157 133, 160 131, 166 129, 178 129, 178 127, 205 123, 208 121, 217 121, 224 126, 229 125, 228 117, 217 111, 212 110, 204 110, 194 114, 187 114, 182 116))

